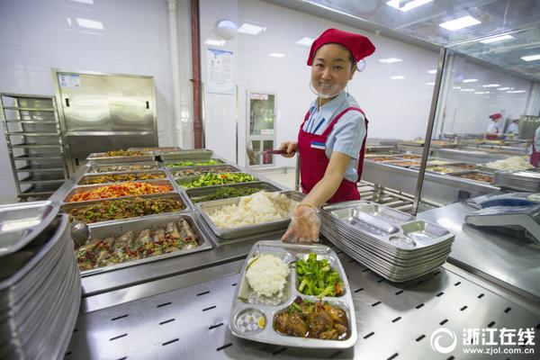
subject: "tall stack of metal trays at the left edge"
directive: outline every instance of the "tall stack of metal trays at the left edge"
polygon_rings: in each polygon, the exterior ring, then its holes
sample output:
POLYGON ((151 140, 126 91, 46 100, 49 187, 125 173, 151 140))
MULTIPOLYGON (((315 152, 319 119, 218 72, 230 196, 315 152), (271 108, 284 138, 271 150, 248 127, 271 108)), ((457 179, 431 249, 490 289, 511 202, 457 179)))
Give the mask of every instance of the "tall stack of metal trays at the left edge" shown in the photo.
POLYGON ((63 356, 81 283, 67 215, 50 202, 0 207, 0 358, 63 356))

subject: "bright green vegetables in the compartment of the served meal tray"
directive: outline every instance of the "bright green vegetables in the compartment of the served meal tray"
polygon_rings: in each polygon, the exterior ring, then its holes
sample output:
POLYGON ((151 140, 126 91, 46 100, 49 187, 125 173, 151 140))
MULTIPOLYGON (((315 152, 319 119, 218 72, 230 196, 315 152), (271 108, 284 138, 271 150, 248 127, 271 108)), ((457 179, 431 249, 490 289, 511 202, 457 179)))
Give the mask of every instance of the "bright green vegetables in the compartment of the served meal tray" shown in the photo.
POLYGON ((327 259, 317 260, 317 254, 311 253, 304 260, 296 262, 296 274, 298 275, 298 291, 305 295, 341 296, 345 284, 341 281, 338 271, 332 269, 327 259))

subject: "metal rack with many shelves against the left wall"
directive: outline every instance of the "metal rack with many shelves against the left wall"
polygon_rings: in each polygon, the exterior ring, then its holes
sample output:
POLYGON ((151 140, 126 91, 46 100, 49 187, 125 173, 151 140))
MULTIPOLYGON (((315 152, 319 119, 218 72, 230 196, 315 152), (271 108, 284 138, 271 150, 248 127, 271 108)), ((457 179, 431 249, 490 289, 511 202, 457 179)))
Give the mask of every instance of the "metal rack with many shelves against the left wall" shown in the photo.
POLYGON ((49 197, 67 179, 56 99, 1 93, 0 110, 18 197, 49 197))

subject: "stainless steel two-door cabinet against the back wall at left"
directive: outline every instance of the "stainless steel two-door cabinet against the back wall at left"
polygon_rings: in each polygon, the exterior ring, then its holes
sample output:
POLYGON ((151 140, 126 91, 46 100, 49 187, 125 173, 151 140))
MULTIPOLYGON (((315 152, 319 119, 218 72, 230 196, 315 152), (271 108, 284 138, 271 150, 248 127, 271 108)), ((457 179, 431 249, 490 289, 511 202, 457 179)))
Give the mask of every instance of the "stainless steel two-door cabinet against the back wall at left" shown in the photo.
POLYGON ((93 152, 157 146, 152 76, 53 69, 70 175, 93 152))

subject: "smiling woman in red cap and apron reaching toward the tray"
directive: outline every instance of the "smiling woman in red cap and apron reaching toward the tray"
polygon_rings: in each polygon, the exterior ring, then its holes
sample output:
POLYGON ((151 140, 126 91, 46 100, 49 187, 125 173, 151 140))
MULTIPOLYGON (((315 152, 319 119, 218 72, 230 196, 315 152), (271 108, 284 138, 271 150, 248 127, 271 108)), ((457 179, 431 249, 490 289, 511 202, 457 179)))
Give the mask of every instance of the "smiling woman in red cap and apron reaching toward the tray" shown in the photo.
POLYGON ((316 208, 325 202, 360 199, 356 183, 362 175, 367 119, 345 88, 356 64, 374 53, 365 36, 329 29, 313 41, 308 58, 311 90, 317 99, 306 113, 298 142, 284 142, 284 157, 300 155, 302 191, 283 240, 311 242, 319 238, 316 208))

